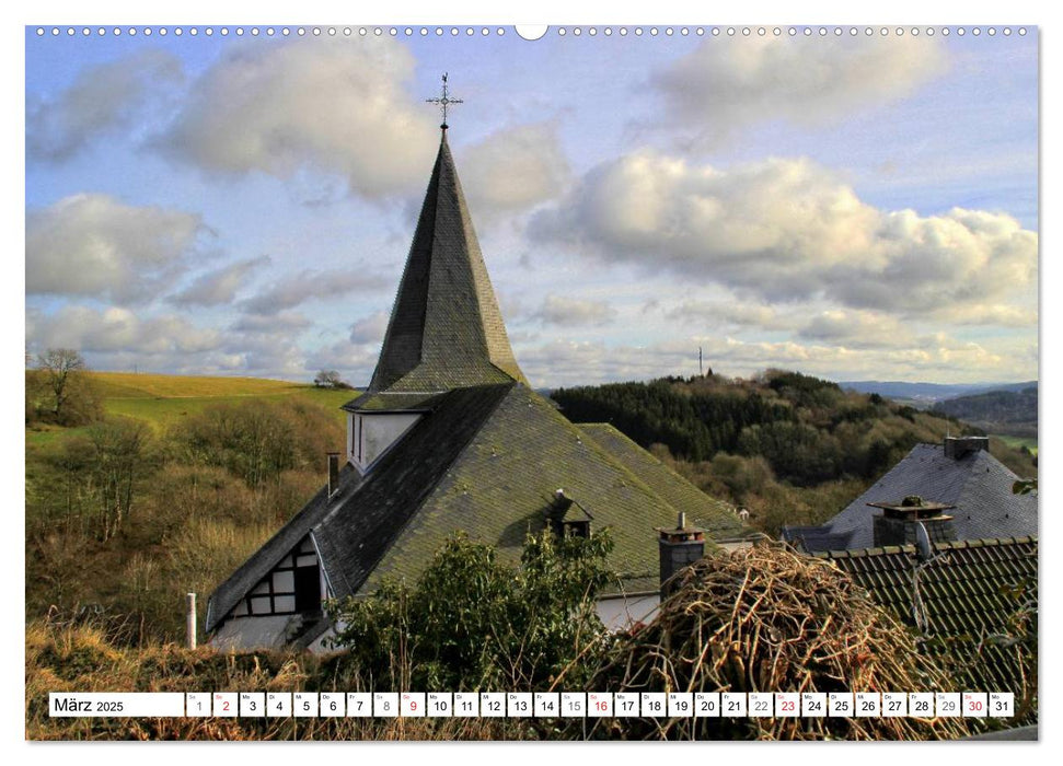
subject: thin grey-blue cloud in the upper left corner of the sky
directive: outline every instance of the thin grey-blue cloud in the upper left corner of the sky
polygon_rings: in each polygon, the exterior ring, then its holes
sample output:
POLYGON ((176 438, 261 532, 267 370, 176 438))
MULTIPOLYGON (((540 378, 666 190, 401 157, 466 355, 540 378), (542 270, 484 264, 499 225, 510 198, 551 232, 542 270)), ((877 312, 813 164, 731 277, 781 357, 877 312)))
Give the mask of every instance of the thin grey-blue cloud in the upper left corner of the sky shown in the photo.
POLYGON ((182 76, 176 57, 143 48, 85 68, 70 88, 54 96, 27 93, 26 153, 37 160, 66 160, 131 123, 148 98, 182 76))

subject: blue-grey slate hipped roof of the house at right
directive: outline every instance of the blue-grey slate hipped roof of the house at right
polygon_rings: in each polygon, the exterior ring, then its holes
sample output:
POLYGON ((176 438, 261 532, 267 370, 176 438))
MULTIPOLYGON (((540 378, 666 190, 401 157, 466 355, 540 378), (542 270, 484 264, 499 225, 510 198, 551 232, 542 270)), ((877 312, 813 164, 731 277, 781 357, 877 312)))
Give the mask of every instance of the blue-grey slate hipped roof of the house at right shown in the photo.
POLYGON ((949 512, 957 539, 1037 534, 1037 498, 1016 495, 1018 479, 987 451, 947 457, 943 444, 916 444, 905 457, 866 492, 821 527, 787 526, 783 538, 802 542, 809 552, 830 549, 848 535, 845 548, 875 545, 873 517, 881 510, 869 502, 900 502, 910 495, 955 506, 949 512), (814 531, 817 530, 818 531, 814 531))

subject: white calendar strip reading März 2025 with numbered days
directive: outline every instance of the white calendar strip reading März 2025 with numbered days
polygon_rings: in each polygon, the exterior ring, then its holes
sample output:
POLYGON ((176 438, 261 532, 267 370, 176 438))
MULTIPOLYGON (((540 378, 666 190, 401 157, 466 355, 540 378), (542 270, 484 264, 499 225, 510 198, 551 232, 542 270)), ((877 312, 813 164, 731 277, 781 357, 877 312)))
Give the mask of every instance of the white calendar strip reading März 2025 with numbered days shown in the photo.
POLYGON ((1010 718, 1010 692, 189 692, 48 695, 51 717, 1010 718))

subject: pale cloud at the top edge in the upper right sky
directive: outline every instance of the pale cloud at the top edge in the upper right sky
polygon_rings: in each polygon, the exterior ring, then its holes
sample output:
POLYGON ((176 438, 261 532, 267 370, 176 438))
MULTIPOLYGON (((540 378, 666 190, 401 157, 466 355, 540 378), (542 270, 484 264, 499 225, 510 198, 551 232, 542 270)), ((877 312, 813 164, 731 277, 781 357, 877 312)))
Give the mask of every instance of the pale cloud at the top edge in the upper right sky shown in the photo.
POLYGON ((651 82, 666 129, 712 146, 755 123, 824 124, 882 106, 946 67, 934 38, 743 37, 705 40, 651 82))

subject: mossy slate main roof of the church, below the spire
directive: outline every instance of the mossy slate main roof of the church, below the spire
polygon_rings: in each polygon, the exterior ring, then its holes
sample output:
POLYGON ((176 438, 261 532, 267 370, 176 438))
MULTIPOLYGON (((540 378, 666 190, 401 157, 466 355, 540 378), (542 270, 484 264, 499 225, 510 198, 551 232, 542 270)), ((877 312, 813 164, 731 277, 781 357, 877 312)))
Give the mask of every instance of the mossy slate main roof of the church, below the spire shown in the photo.
POLYGON ((611 427, 577 427, 522 384, 455 388, 428 406, 365 478, 346 466, 332 498, 319 492, 218 588, 207 630, 308 534, 333 594, 345 596, 372 592, 385 577, 412 582, 459 530, 518 561, 559 488, 591 514, 592 531, 610 530, 609 566, 620 581, 609 593, 657 589, 655 527, 673 526, 680 510, 710 538, 744 531, 727 506, 642 457, 611 427))

